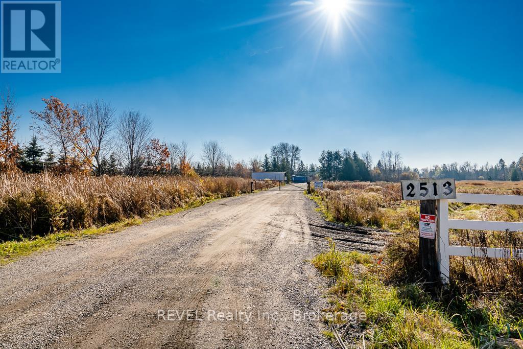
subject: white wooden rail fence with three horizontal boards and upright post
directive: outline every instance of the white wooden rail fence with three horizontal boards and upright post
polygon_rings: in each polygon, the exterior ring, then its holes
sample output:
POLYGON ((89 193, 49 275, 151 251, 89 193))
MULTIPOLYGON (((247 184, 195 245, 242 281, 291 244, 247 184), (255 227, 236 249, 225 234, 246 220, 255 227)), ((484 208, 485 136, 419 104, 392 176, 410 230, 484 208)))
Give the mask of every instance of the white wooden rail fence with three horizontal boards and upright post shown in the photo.
POLYGON ((438 240, 436 249, 439 260, 441 280, 449 280, 449 256, 475 256, 489 258, 523 258, 523 250, 499 249, 495 247, 449 246, 449 229, 523 231, 520 222, 495 222, 449 219, 449 202, 467 202, 468 204, 523 205, 523 196, 457 194, 456 199, 438 200, 438 240))

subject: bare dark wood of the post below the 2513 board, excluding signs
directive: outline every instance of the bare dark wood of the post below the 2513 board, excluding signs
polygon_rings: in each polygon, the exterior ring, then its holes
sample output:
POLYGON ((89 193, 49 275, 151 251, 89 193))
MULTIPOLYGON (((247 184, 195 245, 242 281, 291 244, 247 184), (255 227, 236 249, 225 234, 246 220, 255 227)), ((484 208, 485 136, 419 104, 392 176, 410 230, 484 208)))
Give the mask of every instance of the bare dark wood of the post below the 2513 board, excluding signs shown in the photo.
MULTIPOLYGON (((436 200, 419 201, 420 215, 436 215, 436 200)), ((419 269, 428 282, 439 280, 438 256, 436 254, 436 239, 419 237, 419 269)))

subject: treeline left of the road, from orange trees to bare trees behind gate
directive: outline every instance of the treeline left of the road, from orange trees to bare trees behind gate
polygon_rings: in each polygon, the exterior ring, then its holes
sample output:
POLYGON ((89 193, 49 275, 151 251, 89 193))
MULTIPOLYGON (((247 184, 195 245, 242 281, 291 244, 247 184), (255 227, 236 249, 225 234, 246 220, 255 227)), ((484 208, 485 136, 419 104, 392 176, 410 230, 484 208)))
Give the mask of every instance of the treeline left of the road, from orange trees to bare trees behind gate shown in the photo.
POLYGON ((250 177, 251 171, 284 171, 290 176, 308 170, 300 160, 301 149, 285 142, 274 145, 263 160, 255 156, 244 161, 210 140, 202 143, 197 159, 187 142, 166 143, 153 137, 152 120, 140 111, 117 114, 103 100, 70 107, 59 98, 43 98, 43 110, 30 111, 33 136, 21 145, 16 139, 19 117, 14 96, 9 89, 0 95, 1 172, 250 177))

